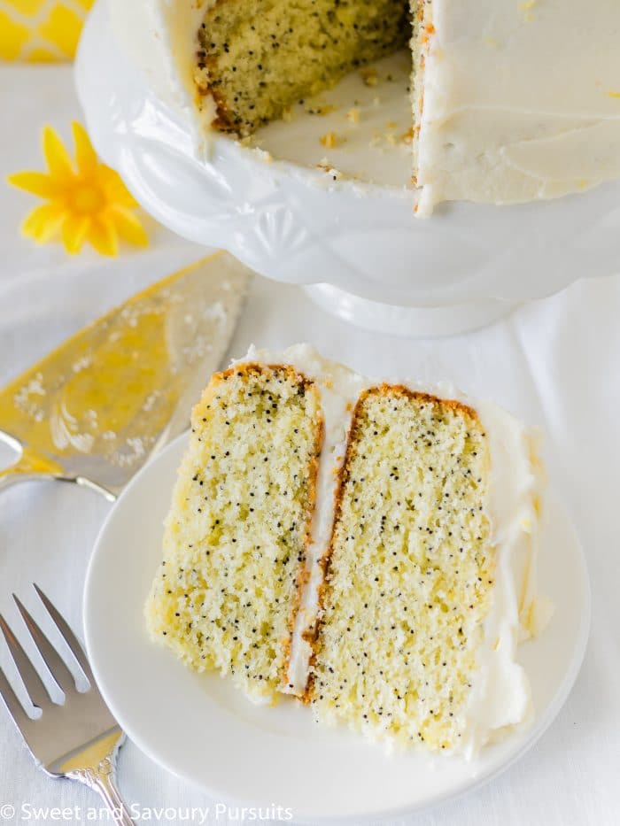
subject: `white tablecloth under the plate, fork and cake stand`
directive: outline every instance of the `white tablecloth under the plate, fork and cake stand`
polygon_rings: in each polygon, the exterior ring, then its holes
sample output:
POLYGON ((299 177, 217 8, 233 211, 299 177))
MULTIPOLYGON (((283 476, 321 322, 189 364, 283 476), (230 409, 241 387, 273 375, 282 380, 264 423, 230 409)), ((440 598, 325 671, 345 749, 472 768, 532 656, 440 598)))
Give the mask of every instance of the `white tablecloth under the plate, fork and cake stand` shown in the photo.
MULTIPOLYGON (((0 111, 2 178, 41 166, 44 122, 68 137, 70 120, 80 116, 66 69, 0 69, 0 111)), ((36 248, 19 238, 19 220, 33 204, 32 197, 0 183, 2 383, 87 320, 201 253, 149 222, 149 251, 125 251, 113 261, 90 252, 67 259, 60 246, 36 248)), ((620 239, 618 263, 620 268, 620 239)), ((299 340, 314 342, 326 356, 364 373, 446 379, 541 425, 554 487, 585 545, 592 635, 562 713, 531 753, 499 779, 411 822, 620 823, 620 277, 578 282, 492 328, 438 341, 369 335, 322 313, 299 289, 257 278, 230 354, 243 354, 252 342, 275 348, 299 340)), ((9 458, 2 448, 0 461, 9 458)), ((110 507, 89 490, 59 482, 23 485, 0 497, 0 610, 10 621, 17 620, 10 592, 31 598, 29 583, 35 580, 81 628, 89 553, 110 507)), ((0 664, 9 670, 4 646, 0 664)), ((156 820, 155 807, 174 807, 176 817, 160 822, 183 822, 186 807, 213 806, 131 743, 120 753, 119 773, 125 797, 143 807, 144 819, 151 813, 156 820)), ((0 708, 3 803, 16 808, 14 822, 27 822, 34 811, 29 806, 81 807, 81 817, 62 821, 81 822, 97 800, 77 784, 57 783, 37 771, 0 708)), ((0 806, 0 818, 2 812, 0 806)), ((198 816, 194 822, 200 822, 198 816)), ((228 819, 210 816, 205 822, 228 819)))

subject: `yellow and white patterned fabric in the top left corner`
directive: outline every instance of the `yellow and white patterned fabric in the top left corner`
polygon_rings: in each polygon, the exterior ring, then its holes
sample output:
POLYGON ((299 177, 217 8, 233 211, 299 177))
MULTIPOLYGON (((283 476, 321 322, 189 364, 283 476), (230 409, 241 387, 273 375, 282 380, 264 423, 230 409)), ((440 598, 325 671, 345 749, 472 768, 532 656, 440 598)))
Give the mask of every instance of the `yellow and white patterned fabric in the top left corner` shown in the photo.
POLYGON ((0 60, 72 60, 94 0, 0 0, 0 60))

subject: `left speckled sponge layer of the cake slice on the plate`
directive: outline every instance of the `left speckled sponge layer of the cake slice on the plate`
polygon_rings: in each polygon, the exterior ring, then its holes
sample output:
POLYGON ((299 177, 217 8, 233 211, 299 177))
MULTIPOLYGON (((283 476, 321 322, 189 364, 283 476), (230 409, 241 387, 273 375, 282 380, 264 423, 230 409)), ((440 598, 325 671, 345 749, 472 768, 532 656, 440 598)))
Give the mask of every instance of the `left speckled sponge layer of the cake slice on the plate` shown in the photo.
POLYGON ((286 680, 321 444, 318 393, 292 367, 216 374, 192 413, 147 625, 253 699, 286 680))

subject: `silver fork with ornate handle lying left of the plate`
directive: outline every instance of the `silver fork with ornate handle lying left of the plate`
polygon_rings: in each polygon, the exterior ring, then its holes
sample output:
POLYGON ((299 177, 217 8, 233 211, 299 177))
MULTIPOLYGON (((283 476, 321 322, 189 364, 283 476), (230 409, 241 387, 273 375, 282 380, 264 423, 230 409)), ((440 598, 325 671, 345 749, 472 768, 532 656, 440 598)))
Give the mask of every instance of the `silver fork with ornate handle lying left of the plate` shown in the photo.
POLYGON ((31 702, 35 708, 42 711, 40 719, 28 716, 2 668, 0 696, 4 699, 9 714, 39 766, 52 777, 79 780, 97 791, 109 807, 114 822, 128 826, 133 821, 120 798, 115 781, 116 754, 125 735, 108 711, 97 689, 86 655, 74 632, 37 585, 35 590, 73 653, 82 675, 88 679, 90 687, 88 691, 78 691, 65 660, 60 657, 35 620, 13 594, 19 614, 43 658, 50 679, 63 692, 65 699, 62 705, 51 699, 43 680, 2 614, 0 630, 31 702))

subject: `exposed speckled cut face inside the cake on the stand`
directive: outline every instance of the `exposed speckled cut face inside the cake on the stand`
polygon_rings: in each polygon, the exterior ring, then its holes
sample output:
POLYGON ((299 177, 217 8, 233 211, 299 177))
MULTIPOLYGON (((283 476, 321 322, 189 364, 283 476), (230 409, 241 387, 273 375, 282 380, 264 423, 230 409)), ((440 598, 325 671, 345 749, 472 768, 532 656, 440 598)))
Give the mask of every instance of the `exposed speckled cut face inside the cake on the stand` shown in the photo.
POLYGON ((403 0, 219 0, 199 29, 196 81, 214 126, 250 135, 300 98, 404 46, 403 0))

